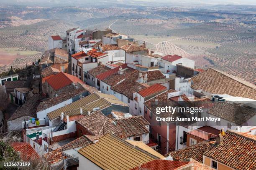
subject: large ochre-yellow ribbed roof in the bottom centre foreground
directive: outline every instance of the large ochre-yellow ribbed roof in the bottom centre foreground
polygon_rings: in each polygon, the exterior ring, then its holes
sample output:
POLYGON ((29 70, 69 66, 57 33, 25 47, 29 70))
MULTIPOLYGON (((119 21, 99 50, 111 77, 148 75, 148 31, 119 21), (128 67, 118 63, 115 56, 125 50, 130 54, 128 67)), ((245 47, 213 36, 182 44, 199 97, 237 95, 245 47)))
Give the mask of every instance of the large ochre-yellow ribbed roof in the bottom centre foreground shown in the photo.
POLYGON ((103 170, 130 170, 156 158, 111 133, 78 152, 103 170))

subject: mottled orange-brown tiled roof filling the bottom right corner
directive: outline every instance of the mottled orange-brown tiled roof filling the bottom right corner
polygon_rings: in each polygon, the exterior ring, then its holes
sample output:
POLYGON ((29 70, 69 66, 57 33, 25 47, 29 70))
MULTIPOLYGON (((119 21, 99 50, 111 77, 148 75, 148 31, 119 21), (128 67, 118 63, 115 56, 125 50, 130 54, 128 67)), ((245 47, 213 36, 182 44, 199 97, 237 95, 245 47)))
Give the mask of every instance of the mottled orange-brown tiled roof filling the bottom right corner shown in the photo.
POLYGON ((227 132, 223 143, 204 155, 237 170, 256 169, 256 140, 243 133, 227 132))

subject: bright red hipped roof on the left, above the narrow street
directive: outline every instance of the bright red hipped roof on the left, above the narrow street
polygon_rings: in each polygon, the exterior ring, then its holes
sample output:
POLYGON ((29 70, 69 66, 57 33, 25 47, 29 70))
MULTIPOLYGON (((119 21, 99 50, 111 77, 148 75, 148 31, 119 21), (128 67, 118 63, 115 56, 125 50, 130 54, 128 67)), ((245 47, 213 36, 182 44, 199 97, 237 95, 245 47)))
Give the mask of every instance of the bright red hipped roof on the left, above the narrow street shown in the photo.
POLYGON ((84 83, 82 80, 80 80, 78 77, 74 75, 70 75, 64 72, 59 72, 58 74, 49 77, 46 79, 46 82, 54 88, 54 90, 59 90, 62 87, 66 87, 67 85, 77 82, 84 83))

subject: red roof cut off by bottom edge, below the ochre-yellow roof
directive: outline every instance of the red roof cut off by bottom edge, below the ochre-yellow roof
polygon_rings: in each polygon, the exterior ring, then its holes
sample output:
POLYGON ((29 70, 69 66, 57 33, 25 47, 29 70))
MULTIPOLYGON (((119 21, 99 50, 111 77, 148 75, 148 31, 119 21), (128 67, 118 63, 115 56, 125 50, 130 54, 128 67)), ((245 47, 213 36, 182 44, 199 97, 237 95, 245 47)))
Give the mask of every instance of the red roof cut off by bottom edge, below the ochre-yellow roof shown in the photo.
POLYGON ((187 165, 190 162, 185 161, 173 161, 173 160, 152 160, 148 163, 144 163, 141 166, 135 167, 131 170, 176 170, 181 166, 187 165))

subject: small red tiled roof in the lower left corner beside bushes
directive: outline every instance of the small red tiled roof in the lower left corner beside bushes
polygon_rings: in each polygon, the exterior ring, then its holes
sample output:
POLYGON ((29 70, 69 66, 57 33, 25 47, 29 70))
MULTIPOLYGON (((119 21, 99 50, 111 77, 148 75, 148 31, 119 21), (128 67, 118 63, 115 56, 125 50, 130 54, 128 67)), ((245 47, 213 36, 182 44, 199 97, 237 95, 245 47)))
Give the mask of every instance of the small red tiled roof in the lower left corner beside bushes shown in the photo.
POLYGON ((20 152, 20 158, 24 161, 39 159, 39 155, 29 143, 14 142, 11 146, 15 151, 20 152))

